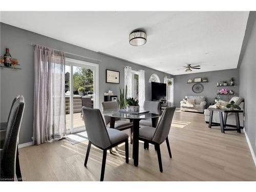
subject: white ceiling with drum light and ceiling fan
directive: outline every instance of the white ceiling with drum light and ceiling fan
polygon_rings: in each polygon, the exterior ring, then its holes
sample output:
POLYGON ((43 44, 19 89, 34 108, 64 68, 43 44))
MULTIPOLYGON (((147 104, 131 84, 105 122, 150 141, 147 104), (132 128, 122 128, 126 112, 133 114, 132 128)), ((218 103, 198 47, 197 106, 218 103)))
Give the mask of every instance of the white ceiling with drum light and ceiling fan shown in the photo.
POLYGON ((249 12, 1 12, 1 21, 169 74, 237 68, 249 12), (144 29, 144 46, 129 34, 144 29))

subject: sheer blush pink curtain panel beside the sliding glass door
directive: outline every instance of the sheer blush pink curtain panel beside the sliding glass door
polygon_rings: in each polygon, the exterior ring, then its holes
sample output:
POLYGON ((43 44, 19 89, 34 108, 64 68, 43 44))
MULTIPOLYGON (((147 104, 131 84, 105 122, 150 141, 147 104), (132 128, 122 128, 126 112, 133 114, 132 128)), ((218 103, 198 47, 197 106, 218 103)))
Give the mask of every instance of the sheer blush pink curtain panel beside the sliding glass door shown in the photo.
POLYGON ((35 46, 33 144, 66 135, 65 53, 35 46))

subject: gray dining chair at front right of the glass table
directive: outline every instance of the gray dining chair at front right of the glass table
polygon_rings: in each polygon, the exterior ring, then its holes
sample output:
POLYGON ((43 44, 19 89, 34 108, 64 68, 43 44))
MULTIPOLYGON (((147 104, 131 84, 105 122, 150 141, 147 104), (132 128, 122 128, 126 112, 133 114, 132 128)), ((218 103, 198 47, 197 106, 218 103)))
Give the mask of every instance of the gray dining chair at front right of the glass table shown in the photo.
POLYGON ((170 152, 170 145, 168 141, 168 134, 170 131, 170 125, 172 124, 174 112, 175 106, 167 107, 164 110, 156 128, 151 126, 140 127, 139 140, 155 145, 160 172, 163 172, 160 144, 164 141, 166 141, 167 144, 169 157, 172 158, 172 153, 170 152))

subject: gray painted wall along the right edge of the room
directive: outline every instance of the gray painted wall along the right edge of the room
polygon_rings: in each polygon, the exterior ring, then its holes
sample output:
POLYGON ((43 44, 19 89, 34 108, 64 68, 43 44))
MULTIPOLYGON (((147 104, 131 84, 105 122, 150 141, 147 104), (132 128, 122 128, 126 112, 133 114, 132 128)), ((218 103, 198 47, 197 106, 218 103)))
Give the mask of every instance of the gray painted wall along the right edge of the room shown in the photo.
MULTIPOLYGON (((255 112, 255 95, 256 95, 256 12, 250 12, 254 14, 252 22, 252 30, 249 34, 249 40, 245 48, 245 53, 240 66, 240 96, 245 100, 245 130, 253 148, 254 154, 256 154, 256 112, 255 112)), ((249 22, 249 19, 248 19, 249 22)), ((249 23, 247 23, 248 26, 249 23)), ((246 37, 245 37, 246 38, 246 37)))

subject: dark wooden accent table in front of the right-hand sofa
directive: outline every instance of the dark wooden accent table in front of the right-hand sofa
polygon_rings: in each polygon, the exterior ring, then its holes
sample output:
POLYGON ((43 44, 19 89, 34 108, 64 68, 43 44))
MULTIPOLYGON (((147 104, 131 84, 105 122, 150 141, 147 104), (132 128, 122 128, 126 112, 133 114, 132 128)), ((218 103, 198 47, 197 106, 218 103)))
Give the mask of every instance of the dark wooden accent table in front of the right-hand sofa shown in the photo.
POLYGON ((209 119, 209 125, 208 125, 209 128, 211 128, 211 126, 212 126, 212 115, 214 114, 214 111, 216 111, 216 112, 219 112, 221 133, 225 133, 225 131, 237 131, 238 133, 241 133, 239 113, 243 113, 244 112, 243 110, 228 110, 227 108, 225 108, 225 109, 208 108, 208 110, 210 111, 210 119, 209 119), (224 113, 224 120, 223 120, 222 113, 224 113), (234 116, 236 117, 237 129, 226 129, 225 128, 228 113, 234 113, 234 116))

